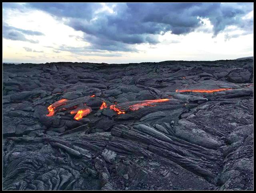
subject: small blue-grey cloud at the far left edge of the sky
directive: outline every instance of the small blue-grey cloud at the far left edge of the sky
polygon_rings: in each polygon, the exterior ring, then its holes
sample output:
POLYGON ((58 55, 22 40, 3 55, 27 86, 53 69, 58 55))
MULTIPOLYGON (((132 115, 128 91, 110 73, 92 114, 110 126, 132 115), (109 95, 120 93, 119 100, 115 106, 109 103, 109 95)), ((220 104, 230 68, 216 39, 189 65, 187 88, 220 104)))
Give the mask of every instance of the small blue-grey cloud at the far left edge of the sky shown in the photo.
POLYGON ((27 39, 24 35, 42 36, 44 34, 37 31, 15 28, 15 27, 9 26, 6 23, 3 24, 3 38, 9 39, 9 40, 19 40, 24 42, 30 42, 33 44, 39 43, 38 40, 35 41, 35 40, 27 39))

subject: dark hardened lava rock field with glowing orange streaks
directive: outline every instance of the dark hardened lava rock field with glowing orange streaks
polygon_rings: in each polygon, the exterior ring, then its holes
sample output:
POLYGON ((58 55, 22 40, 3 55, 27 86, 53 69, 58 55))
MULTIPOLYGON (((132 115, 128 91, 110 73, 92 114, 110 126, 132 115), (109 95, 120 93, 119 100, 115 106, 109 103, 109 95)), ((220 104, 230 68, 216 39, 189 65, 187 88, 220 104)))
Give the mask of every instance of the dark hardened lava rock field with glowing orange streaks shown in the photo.
POLYGON ((3 189, 252 190, 252 69, 3 64, 3 189))

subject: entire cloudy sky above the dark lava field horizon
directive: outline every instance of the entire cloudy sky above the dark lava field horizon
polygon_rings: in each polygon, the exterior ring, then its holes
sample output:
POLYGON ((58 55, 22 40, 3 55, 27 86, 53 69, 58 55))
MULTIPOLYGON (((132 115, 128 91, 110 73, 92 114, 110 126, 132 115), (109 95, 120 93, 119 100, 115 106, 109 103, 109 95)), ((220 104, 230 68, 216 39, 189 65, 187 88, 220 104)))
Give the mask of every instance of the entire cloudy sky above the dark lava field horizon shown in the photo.
POLYGON ((3 3, 3 62, 253 56, 253 3, 3 3))

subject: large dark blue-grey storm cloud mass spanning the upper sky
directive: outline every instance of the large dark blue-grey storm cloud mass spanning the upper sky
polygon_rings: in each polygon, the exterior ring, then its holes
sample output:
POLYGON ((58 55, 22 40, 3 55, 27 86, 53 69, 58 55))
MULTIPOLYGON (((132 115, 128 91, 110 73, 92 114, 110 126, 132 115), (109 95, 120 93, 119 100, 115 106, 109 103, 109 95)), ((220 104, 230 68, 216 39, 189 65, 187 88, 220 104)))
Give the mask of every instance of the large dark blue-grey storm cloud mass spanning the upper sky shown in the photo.
POLYGON ((99 3, 30 3, 26 8, 39 9, 65 24, 84 32, 90 49, 135 51, 134 45, 158 44, 158 36, 171 31, 181 35, 193 32, 208 18, 216 36, 226 26, 234 25, 252 33, 253 18, 242 17, 253 10, 253 3, 108 3, 114 13, 98 12, 99 3))

